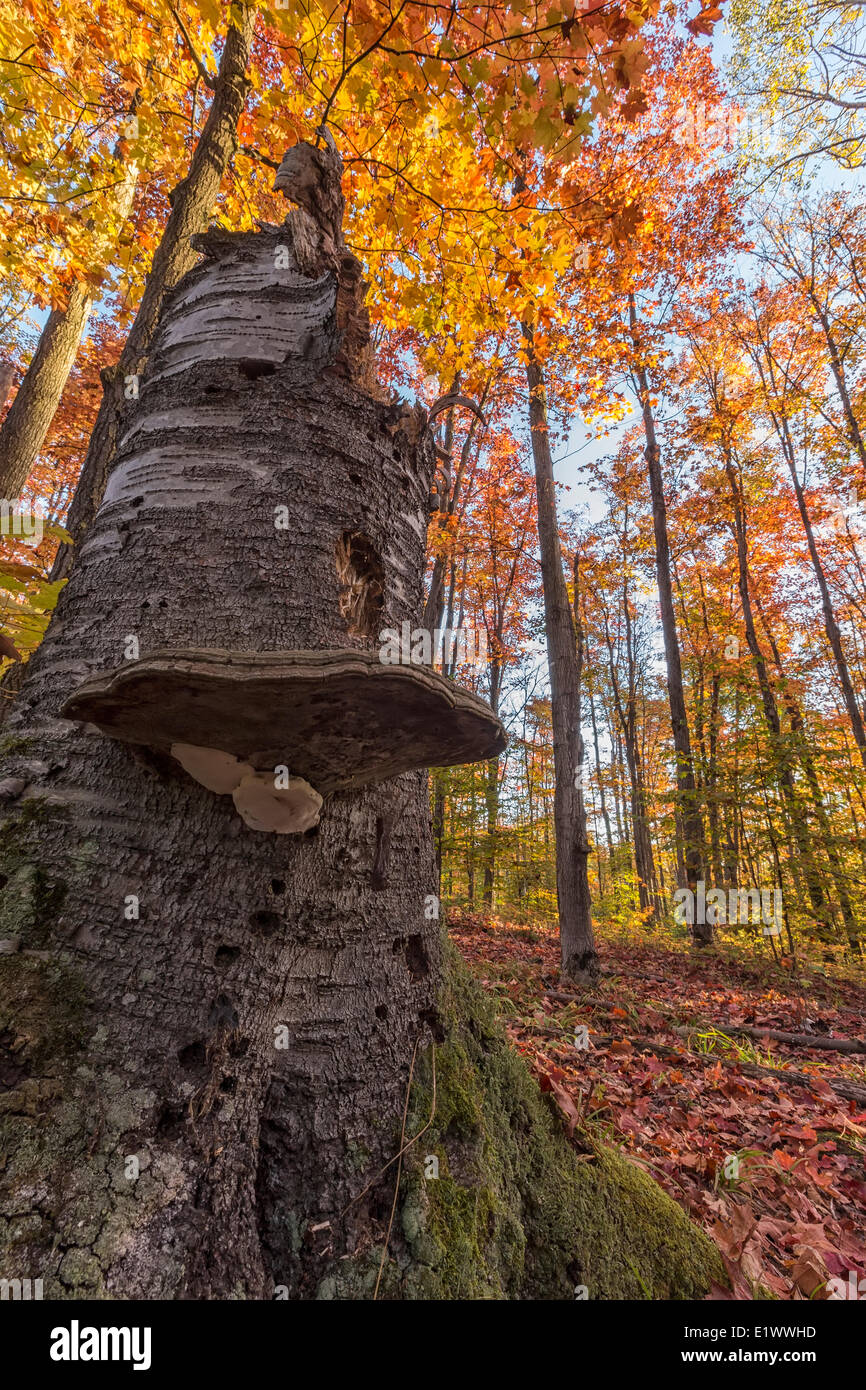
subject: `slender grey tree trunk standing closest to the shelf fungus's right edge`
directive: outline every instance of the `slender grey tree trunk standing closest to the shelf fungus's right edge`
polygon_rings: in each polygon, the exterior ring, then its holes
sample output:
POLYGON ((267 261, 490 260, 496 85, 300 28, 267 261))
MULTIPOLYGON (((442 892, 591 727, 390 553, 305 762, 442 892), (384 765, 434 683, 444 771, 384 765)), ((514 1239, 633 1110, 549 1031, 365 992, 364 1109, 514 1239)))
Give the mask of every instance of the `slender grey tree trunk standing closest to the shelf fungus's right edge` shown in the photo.
POLYGON ((545 631, 550 671, 550 709, 553 719, 553 819, 556 824, 556 897, 562 970, 569 979, 594 979, 598 954, 592 931, 589 901, 589 841, 580 788, 582 738, 580 728, 580 671, 577 641, 569 589, 563 574, 559 527, 556 521, 556 484, 548 434, 548 410, 544 370, 535 356, 532 329, 521 325, 527 350, 527 385, 530 391, 530 427, 535 489, 538 495, 538 542, 541 580, 545 600, 545 631))

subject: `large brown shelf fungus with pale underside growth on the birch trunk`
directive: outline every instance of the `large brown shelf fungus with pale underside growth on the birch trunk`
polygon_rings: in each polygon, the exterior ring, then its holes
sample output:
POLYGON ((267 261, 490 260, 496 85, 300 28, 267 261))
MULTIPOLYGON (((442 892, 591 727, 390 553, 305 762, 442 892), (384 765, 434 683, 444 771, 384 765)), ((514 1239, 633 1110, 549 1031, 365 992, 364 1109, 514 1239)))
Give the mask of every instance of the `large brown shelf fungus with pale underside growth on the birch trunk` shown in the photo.
POLYGON ((311 828, 331 792, 505 748, 477 695, 430 666, 360 649, 157 651, 92 676, 61 713, 168 751, 203 787, 231 795, 247 826, 275 834, 311 828))

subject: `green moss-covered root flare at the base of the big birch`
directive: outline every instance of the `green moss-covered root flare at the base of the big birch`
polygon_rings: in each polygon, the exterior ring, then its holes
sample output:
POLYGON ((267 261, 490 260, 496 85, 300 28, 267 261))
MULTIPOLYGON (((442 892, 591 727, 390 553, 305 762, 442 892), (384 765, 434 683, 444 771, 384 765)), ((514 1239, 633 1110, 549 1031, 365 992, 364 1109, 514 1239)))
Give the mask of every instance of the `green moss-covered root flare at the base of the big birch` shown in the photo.
MULTIPOLYGON (((724 1283, 716 1248, 651 1177, 567 1140, 450 948, 445 970, 434 1122, 406 1156, 378 1297, 669 1300, 724 1283)), ((432 1109, 428 1052, 407 1134, 432 1109)), ((346 1262, 320 1297, 370 1297, 378 1262, 346 1262)))

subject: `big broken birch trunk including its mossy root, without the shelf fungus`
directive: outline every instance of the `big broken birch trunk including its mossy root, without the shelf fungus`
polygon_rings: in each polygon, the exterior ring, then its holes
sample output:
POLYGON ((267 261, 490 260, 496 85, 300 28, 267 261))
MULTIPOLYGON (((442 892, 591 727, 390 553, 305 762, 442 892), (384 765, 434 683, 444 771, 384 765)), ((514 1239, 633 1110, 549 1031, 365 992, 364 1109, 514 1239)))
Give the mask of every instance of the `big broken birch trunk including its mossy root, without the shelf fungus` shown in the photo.
POLYGON ((131 637, 368 649, 339 605, 348 530, 381 559, 386 620, 421 612, 432 452, 331 370, 336 277, 275 271, 282 235, 178 286, 4 737, 0 1273, 60 1298, 368 1297, 411 1079, 407 1134, 434 1111, 443 1170, 406 1161, 382 1295, 699 1297, 708 1241, 621 1158, 578 1162, 443 980, 423 773, 259 834, 164 755, 58 717, 131 637), (246 284, 232 314, 220 279, 246 284))

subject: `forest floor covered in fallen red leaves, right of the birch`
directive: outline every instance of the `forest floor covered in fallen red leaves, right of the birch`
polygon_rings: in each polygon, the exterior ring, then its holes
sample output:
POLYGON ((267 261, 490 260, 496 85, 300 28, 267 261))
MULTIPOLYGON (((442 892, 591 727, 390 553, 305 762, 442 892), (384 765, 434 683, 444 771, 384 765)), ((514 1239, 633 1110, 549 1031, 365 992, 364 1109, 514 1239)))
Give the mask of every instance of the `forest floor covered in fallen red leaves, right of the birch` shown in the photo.
POLYGON ((601 937, 578 991, 552 929, 452 910, 449 934, 566 1126, 620 1145, 716 1241, 733 1291, 710 1297, 866 1297, 866 1048, 731 1033, 862 1040, 862 973, 642 933, 601 937))

